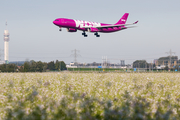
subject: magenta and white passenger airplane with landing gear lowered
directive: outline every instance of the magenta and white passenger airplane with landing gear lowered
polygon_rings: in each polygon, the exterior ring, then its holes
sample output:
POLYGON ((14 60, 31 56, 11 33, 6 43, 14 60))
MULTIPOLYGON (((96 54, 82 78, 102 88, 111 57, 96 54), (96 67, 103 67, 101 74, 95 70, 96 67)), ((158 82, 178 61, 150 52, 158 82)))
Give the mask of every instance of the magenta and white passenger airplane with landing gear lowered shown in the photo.
POLYGON ((124 30, 130 27, 125 27, 128 25, 133 25, 138 23, 138 21, 132 24, 126 24, 129 13, 125 13, 122 18, 116 24, 104 24, 98 22, 88 22, 83 20, 67 19, 67 18, 58 18, 53 21, 53 23, 58 26, 61 31, 61 28, 67 28, 68 32, 77 32, 77 30, 83 31, 82 35, 87 37, 86 32, 93 32, 96 37, 100 37, 98 32, 101 33, 111 33, 120 30, 124 30))

